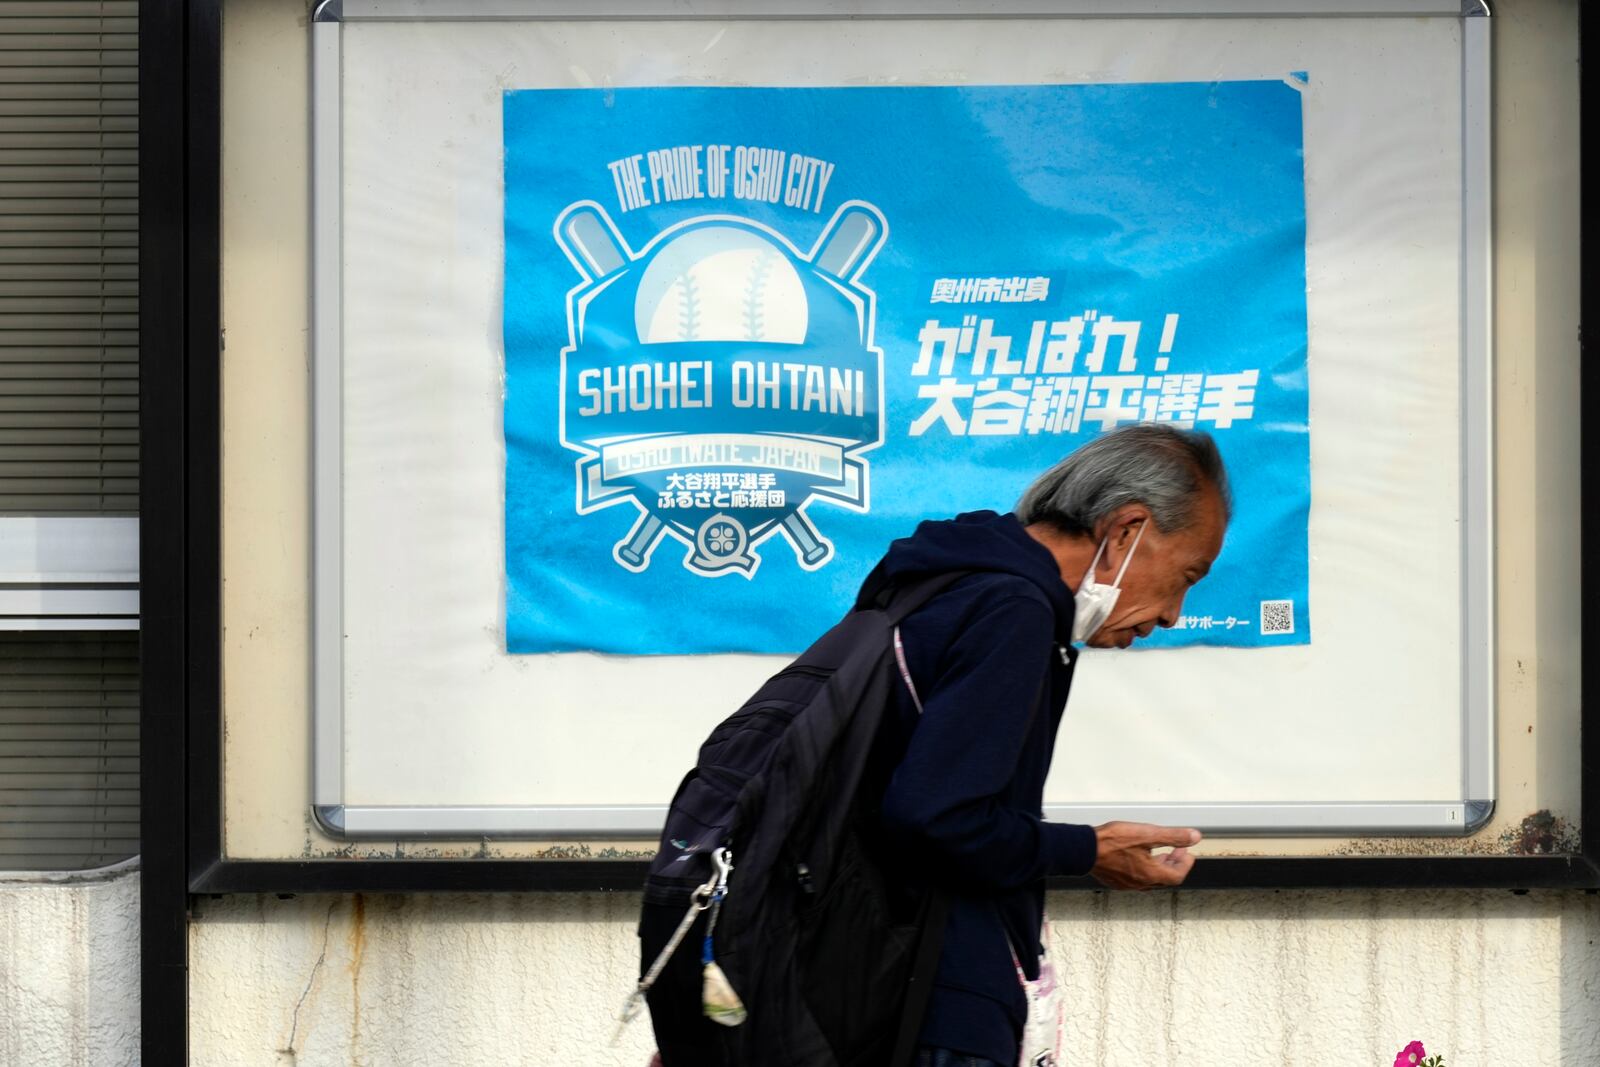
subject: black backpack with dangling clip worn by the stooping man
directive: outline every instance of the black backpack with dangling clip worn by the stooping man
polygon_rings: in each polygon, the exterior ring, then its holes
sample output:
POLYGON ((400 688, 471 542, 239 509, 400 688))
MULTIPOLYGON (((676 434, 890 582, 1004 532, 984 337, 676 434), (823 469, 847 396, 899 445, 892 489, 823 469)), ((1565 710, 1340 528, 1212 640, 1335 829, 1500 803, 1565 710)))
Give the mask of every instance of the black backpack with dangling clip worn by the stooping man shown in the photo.
POLYGON ((874 741, 904 685, 901 619, 949 587, 936 574, 846 614, 717 726, 678 785, 650 864, 642 973, 664 1067, 899 1067, 938 965, 949 901, 886 877, 880 797, 862 790, 874 741), (882 603, 885 601, 886 603, 882 603), (688 918, 733 872, 715 907, 688 918), (712 918, 714 917, 714 918, 712 918), (702 945, 742 1000, 738 1025, 702 1013, 702 945), (686 933, 683 925, 690 923, 686 933))

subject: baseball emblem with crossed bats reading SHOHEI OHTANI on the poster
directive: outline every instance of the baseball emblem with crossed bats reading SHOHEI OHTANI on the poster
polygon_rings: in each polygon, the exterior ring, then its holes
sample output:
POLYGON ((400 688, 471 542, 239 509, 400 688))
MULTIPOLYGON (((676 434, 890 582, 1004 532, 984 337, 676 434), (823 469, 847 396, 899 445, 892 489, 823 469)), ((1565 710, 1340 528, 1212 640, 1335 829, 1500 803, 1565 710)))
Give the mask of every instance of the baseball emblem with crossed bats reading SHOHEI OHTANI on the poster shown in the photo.
POLYGON ((638 509, 611 557, 640 573, 662 537, 704 577, 752 577, 789 541, 814 571, 834 542, 808 517, 867 509, 862 453, 883 437, 883 352, 861 274, 888 226, 838 206, 808 250, 760 222, 686 219, 634 251, 594 202, 555 219, 568 291, 562 443, 578 510, 638 509))

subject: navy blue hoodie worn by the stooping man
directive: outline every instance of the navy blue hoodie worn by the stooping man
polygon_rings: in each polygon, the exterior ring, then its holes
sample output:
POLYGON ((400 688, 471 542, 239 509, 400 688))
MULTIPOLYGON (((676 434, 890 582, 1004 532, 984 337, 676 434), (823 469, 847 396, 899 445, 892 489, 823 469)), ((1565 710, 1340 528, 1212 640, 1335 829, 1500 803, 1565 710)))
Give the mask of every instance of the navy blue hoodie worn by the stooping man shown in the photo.
POLYGON ((890 545, 858 605, 918 574, 974 571, 901 624, 912 681, 875 750, 880 821, 910 885, 954 893, 920 1041, 1016 1062, 1037 977, 1045 878, 1094 865, 1094 830, 1042 816, 1072 683, 1072 590, 1013 515, 925 522, 890 545), (882 781, 882 779, 880 779, 882 781))

